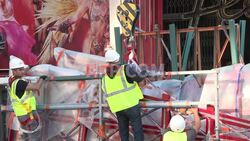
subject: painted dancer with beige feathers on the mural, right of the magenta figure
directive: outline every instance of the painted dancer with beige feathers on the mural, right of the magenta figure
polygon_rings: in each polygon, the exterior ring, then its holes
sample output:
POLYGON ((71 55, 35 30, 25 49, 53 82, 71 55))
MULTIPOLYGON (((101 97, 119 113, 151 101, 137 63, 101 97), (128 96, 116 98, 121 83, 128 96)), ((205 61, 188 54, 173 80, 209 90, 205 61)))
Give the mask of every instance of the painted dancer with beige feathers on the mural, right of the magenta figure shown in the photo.
POLYGON ((39 62, 49 62, 55 46, 103 55, 109 42, 108 6, 108 0, 46 0, 38 18, 47 20, 38 32, 47 29, 49 33, 39 62))

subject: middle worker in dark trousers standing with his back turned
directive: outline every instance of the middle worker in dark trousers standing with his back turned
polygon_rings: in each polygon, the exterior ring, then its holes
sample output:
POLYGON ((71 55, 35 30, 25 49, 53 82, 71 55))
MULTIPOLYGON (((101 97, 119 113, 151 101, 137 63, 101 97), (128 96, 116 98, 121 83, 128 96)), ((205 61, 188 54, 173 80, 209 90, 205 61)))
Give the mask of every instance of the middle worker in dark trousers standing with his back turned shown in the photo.
POLYGON ((143 141, 139 105, 143 94, 137 83, 143 80, 146 71, 137 72, 135 66, 131 64, 119 66, 120 55, 112 49, 106 51, 105 60, 108 67, 106 75, 102 78, 102 90, 106 95, 111 112, 117 116, 121 140, 129 140, 130 122, 134 140, 143 141))

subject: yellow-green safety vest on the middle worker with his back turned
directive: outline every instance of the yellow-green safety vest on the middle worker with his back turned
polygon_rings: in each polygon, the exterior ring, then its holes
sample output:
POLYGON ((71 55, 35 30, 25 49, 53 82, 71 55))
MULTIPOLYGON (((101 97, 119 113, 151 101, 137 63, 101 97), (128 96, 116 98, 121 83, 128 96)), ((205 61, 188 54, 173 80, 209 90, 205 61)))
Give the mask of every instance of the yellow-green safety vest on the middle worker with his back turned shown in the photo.
POLYGON ((113 113, 119 112, 139 103, 143 94, 137 82, 129 83, 125 76, 124 65, 111 79, 107 74, 102 78, 102 90, 106 94, 108 105, 113 113))

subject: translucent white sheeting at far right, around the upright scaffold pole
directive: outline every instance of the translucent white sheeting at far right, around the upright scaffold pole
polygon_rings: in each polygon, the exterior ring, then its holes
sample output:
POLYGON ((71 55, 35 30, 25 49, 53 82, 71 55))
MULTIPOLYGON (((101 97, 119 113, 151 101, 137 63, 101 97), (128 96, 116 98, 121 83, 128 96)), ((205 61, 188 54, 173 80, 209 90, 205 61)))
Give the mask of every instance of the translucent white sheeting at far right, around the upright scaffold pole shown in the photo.
MULTIPOLYGON (((235 64, 219 68, 219 108, 224 112, 239 116, 236 110, 250 109, 249 104, 241 104, 246 100, 248 94, 244 93, 248 89, 247 70, 249 65, 235 64), (243 92, 243 93, 242 93, 243 92), (244 100, 239 99, 245 97, 244 100), (240 108, 242 107, 242 108, 240 108)), ((248 72, 249 73, 249 72, 248 72)), ((216 74, 208 74, 203 87, 200 105, 206 108, 207 104, 214 105, 216 96, 216 74)), ((241 114, 247 113, 247 110, 241 114)))

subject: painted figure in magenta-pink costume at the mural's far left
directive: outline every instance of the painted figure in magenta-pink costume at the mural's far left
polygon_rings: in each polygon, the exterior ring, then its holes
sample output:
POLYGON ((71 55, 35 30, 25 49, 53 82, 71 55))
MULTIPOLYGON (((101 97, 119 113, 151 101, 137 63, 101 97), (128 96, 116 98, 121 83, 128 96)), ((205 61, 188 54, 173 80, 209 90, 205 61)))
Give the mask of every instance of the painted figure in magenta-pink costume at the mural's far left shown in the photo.
POLYGON ((1 68, 8 68, 10 55, 22 58, 28 65, 36 64, 36 55, 32 53, 35 40, 27 33, 29 27, 16 20, 14 11, 12 1, 0 1, 1 68))

